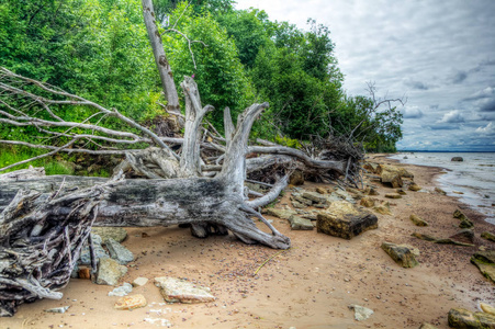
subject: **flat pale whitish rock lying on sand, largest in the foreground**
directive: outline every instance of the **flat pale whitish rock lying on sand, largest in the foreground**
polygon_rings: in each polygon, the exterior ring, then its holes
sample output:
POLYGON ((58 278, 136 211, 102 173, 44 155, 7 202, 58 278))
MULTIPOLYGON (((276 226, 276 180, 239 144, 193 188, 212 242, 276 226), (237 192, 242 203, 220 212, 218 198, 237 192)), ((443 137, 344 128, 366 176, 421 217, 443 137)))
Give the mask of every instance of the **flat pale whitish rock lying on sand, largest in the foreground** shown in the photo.
POLYGON ((215 300, 210 290, 168 276, 155 277, 155 285, 168 303, 209 303, 215 300))

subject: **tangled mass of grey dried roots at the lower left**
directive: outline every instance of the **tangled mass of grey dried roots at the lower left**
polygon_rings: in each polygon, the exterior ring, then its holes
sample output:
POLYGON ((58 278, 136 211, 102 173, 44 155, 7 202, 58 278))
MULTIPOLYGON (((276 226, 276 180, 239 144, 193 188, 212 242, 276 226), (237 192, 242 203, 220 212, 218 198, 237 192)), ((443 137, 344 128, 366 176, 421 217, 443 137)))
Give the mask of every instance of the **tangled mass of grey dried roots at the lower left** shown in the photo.
POLYGON ((19 190, 0 213, 0 316, 38 298, 60 299, 99 203, 116 180, 60 196, 19 190), (70 209, 67 212, 67 209, 70 209))

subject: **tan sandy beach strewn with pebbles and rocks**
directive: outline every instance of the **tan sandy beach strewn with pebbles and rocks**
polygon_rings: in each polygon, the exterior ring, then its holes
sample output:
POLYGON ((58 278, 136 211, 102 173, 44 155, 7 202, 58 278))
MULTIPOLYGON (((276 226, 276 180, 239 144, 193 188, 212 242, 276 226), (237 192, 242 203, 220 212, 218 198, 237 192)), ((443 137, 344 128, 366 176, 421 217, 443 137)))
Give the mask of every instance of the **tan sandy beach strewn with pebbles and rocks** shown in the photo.
MULTIPOLYGON (((393 162, 380 156, 372 160, 393 162)), ((481 246, 495 249, 495 243, 480 238, 482 231, 495 229, 457 198, 434 193, 440 169, 404 167, 424 189, 389 200, 393 215, 378 214, 379 228, 352 240, 316 229, 291 230, 286 220, 270 216, 273 225, 291 238, 292 249, 247 246, 232 235, 198 239, 189 229, 178 227, 128 228, 123 245, 137 259, 123 280, 150 279, 132 293, 143 294, 148 306, 115 310, 119 297, 108 296, 113 287, 71 280, 61 291, 61 300, 22 305, 14 317, 0 318, 0 328, 419 328, 423 322, 448 328, 450 308, 476 310, 480 302, 495 304, 495 285, 470 263, 481 246), (453 235, 459 230, 459 220, 452 217, 458 207, 475 224, 475 247, 435 245, 410 236, 415 231, 453 235), (430 226, 413 225, 413 213, 430 226), (383 241, 418 248, 420 264, 401 268, 380 248, 383 241), (154 277, 165 275, 209 286, 217 299, 195 305, 165 304, 153 284, 154 277), (348 308, 351 304, 371 308, 374 314, 357 321, 348 308), (65 314, 44 311, 58 306, 70 307, 65 314)), ((392 192, 373 184, 379 188, 378 200, 385 200, 384 194, 392 192)), ((303 185, 308 190, 317 186, 322 184, 303 185)), ((277 207, 290 204, 290 193, 289 189, 277 207)))

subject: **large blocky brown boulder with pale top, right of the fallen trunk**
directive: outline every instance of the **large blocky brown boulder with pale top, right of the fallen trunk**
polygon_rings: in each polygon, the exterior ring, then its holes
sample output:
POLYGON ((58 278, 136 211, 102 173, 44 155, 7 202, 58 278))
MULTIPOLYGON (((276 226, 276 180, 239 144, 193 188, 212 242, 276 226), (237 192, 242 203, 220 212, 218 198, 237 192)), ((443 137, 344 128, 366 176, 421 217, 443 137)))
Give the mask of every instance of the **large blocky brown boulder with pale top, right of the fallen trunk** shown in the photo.
POLYGON ((378 218, 347 201, 336 201, 326 211, 318 213, 316 228, 318 232, 351 239, 363 231, 378 228, 378 218))

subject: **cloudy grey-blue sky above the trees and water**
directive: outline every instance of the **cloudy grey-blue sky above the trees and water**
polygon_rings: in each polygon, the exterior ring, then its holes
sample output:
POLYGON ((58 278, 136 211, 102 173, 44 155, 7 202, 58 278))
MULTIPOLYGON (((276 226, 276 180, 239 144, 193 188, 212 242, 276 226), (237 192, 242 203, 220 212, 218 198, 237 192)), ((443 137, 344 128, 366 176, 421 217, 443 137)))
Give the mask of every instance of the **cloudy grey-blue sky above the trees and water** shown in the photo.
POLYGON ((495 0, 236 0, 329 27, 350 95, 407 102, 400 150, 495 151, 495 0))

